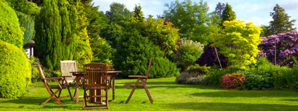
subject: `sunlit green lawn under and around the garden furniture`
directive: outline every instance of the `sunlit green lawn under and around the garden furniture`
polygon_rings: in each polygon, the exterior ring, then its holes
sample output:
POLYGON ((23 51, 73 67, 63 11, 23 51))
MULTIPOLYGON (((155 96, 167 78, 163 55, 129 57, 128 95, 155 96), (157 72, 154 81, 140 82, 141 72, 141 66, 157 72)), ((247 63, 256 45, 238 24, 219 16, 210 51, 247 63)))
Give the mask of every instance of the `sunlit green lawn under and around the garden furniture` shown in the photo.
MULTIPOLYGON (((124 104, 131 88, 123 87, 123 84, 135 81, 136 79, 116 79, 116 101, 109 103, 110 111, 298 111, 297 91, 225 90, 204 85, 176 84, 174 77, 148 80, 153 104, 150 104, 144 89, 137 89, 130 102, 124 104)), ((63 94, 67 94, 67 90, 63 94)), ((70 98, 62 99, 64 105, 50 100, 41 106, 40 103, 48 96, 43 84, 38 82, 29 88, 22 99, 0 99, 0 111, 82 109, 81 104, 74 104, 75 101, 70 98)))

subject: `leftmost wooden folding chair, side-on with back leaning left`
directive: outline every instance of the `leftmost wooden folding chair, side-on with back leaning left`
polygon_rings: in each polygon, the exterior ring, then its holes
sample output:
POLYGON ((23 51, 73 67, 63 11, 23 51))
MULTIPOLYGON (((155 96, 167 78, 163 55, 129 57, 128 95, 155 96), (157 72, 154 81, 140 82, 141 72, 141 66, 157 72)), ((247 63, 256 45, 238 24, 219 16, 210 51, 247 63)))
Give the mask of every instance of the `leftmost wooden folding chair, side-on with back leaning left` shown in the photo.
MULTIPOLYGON (((41 103, 41 105, 46 104, 49 100, 51 100, 52 98, 60 105, 63 104, 63 102, 60 100, 61 97, 68 97, 71 95, 67 95, 67 96, 60 96, 61 95, 61 91, 62 89, 66 89, 67 86, 66 85, 62 85, 62 83, 60 83, 60 80, 62 80, 61 82, 65 81, 64 77, 50 77, 50 78, 46 78, 45 75, 42 72, 42 69, 40 67, 40 65, 37 65, 41 80, 43 81, 45 88, 47 89, 48 93, 50 94, 50 97, 48 99, 46 99, 44 102, 41 103), (49 85, 47 80, 55 80, 57 82, 58 85, 49 85), (52 89, 57 89, 55 92, 52 89), (58 93, 58 95, 57 95, 58 93)), ((69 93, 70 90, 68 89, 69 93)), ((71 94, 71 93, 70 93, 71 94)))

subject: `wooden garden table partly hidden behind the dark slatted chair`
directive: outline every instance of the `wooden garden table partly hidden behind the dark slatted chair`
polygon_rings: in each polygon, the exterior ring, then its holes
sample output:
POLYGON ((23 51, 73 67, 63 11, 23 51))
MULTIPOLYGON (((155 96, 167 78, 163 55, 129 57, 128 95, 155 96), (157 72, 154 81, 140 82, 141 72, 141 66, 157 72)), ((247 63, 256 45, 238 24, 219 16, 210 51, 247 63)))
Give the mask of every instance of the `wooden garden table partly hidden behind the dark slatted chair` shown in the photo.
MULTIPOLYGON (((70 72, 75 76, 75 98, 76 98, 76 102, 75 103, 79 103, 78 101, 78 88, 79 88, 79 80, 84 76, 84 72, 83 71, 78 71, 78 72, 70 72)), ((113 98, 112 101, 115 100, 115 76, 118 75, 119 73, 122 73, 122 71, 107 71, 107 74, 110 76, 111 79, 111 85, 109 84, 109 87, 112 88, 113 91, 113 98)), ((83 82, 83 81, 82 81, 83 82)), ((100 100, 102 101, 102 100, 100 100)))

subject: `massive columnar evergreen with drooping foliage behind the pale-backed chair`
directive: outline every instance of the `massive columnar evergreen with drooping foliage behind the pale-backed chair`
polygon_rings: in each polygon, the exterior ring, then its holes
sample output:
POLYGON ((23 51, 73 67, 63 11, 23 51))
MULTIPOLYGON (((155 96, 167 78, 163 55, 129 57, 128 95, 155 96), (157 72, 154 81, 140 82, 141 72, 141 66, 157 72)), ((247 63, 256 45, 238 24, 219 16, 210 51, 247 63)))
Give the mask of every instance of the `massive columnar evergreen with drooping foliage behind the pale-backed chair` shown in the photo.
POLYGON ((59 69, 60 60, 75 59, 83 64, 92 59, 86 22, 78 3, 44 0, 40 15, 36 16, 36 53, 52 70, 59 69))

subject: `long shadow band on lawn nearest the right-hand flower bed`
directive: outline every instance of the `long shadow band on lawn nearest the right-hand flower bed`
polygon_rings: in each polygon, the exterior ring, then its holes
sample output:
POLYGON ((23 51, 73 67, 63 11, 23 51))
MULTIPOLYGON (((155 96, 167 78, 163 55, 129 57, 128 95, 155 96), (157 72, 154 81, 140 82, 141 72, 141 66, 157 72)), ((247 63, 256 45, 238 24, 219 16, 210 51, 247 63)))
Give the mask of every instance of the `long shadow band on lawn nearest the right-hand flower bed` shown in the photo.
MULTIPOLYGON (((255 91, 255 90, 222 90, 217 92, 198 92, 191 94, 200 97, 298 97, 297 92, 255 91)), ((294 100, 293 100, 294 101, 294 100)))

